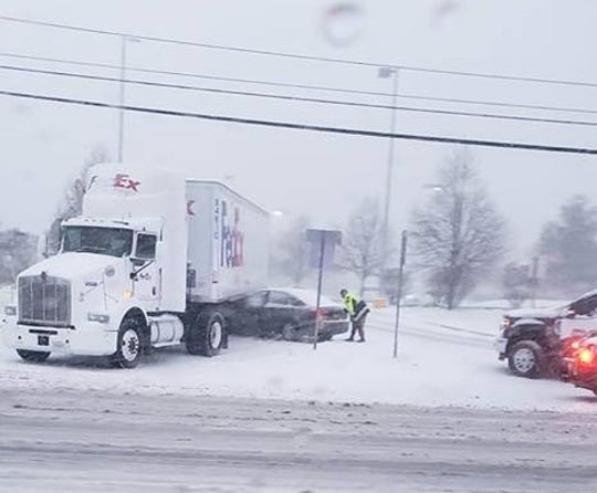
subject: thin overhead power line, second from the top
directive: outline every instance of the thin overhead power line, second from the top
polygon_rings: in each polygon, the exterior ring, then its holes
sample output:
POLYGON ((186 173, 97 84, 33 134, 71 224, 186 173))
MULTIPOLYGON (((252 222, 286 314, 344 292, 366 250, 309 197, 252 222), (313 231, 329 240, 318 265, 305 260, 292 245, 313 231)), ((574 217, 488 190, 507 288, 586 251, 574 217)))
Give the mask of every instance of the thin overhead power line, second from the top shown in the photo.
MULTIPOLYGON (((49 57, 49 56, 34 56, 34 55, 25 55, 25 54, 19 54, 19 53, 0 53, 0 56, 17 59, 17 60, 33 60, 33 61, 39 61, 39 62, 62 63, 62 64, 69 64, 69 65, 88 66, 88 67, 96 67, 96 69, 109 69, 109 70, 121 71, 119 65, 114 65, 109 63, 83 62, 78 60, 56 59, 56 57, 49 57)), ((156 69, 145 69, 145 67, 135 67, 135 66, 127 66, 126 70, 127 72, 139 72, 139 73, 147 73, 147 74, 157 74, 157 75, 172 75, 172 76, 181 76, 181 77, 189 77, 189 78, 233 82, 233 83, 242 83, 242 84, 255 84, 255 85, 265 85, 265 86, 271 86, 271 87, 324 91, 324 92, 334 92, 338 94, 353 94, 353 95, 363 95, 363 96, 384 96, 384 97, 394 96, 394 94, 391 93, 377 92, 377 91, 363 91, 363 90, 349 90, 349 88, 344 88, 344 87, 293 84, 293 83, 262 81, 262 80, 254 80, 254 78, 224 77, 224 76, 211 75, 211 74, 163 71, 163 70, 156 70, 156 69)), ((420 94, 405 94, 405 93, 397 94, 396 96, 401 99, 434 101, 434 102, 441 102, 441 103, 471 104, 471 105, 476 105, 476 106, 495 106, 495 107, 521 108, 521 109, 541 109, 541 111, 549 111, 549 112, 558 112, 558 113, 578 113, 578 114, 586 114, 586 115, 597 115, 597 109, 585 109, 585 108, 578 108, 578 107, 547 106, 547 105, 533 105, 533 104, 521 104, 521 103, 503 103, 503 102, 498 102, 498 101, 425 96, 420 94)))

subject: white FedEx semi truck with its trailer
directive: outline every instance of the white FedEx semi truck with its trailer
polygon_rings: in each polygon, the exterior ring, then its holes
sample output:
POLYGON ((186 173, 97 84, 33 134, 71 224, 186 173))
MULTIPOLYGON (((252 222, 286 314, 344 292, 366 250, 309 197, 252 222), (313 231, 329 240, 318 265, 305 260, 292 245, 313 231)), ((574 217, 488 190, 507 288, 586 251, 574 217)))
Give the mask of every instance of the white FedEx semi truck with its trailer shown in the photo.
POLYGON ((219 182, 96 165, 60 252, 19 274, 4 342, 30 361, 111 356, 124 368, 180 343, 213 356, 228 344, 221 303, 266 283, 268 228, 219 182))

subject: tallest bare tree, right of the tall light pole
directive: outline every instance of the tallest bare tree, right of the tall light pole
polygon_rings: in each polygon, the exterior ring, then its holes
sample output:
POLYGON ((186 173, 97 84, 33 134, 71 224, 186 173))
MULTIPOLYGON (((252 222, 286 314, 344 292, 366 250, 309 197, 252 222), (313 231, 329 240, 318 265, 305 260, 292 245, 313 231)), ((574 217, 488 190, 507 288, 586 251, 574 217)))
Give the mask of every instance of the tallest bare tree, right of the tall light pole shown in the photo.
POLYGON ((437 189, 415 210, 412 239, 429 274, 430 293, 452 310, 500 259, 505 222, 464 149, 457 149, 439 169, 437 189))

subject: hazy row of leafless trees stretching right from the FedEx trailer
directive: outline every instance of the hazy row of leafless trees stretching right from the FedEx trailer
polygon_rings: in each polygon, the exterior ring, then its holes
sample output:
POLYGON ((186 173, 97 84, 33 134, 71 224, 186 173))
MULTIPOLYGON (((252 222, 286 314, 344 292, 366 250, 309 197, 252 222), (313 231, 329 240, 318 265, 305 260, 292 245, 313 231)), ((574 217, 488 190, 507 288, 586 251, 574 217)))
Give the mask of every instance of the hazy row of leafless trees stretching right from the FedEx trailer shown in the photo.
MULTIPOLYGON (((597 287, 597 207, 583 196, 568 199, 559 216, 544 224, 530 262, 506 262, 507 221, 481 180, 473 156, 453 150, 437 169, 432 191, 408 221, 406 282, 425 286, 432 304, 458 307, 486 280, 500 284, 501 296, 520 306, 536 296, 572 297, 597 287), (541 260, 541 279, 537 272, 541 260)), ((280 235, 273 268, 300 285, 310 272, 304 238, 307 216, 295 219, 280 235)), ((366 198, 352 210, 343 230, 338 270, 352 272, 363 295, 368 284, 390 300, 396 293, 396 232, 383 230, 381 210, 366 198), (388 255, 389 253, 389 255, 388 255), (385 256, 386 255, 386 256, 385 256)))

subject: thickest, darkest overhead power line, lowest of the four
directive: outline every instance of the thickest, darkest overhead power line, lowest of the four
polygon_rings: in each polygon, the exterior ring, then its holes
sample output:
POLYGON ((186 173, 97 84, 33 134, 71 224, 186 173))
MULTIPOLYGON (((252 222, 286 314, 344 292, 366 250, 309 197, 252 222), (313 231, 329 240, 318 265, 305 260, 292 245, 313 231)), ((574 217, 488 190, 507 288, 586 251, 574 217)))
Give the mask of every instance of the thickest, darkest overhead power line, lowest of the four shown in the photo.
POLYGON ((174 109, 153 108, 153 107, 146 107, 146 106, 118 105, 118 104, 104 103, 104 102, 98 102, 98 101, 74 99, 70 97, 59 97, 59 96, 51 96, 51 95, 43 95, 43 94, 21 93, 21 92, 15 92, 15 91, 3 91, 3 90, 0 90, 0 95, 10 96, 10 97, 22 97, 22 98, 28 98, 28 99, 46 101, 46 102, 54 102, 54 103, 63 103, 63 104, 73 104, 73 105, 81 105, 81 106, 91 106, 91 107, 101 107, 101 108, 111 108, 111 109, 125 109, 127 112, 135 112, 135 113, 178 116, 178 117, 186 117, 186 118, 237 123, 237 124, 244 124, 244 125, 273 127, 273 128, 290 128, 290 129, 296 129, 296 130, 322 132, 322 133, 328 133, 328 134, 359 135, 364 137, 397 138, 397 139, 402 139, 402 140, 419 140, 419 141, 438 143, 438 144, 462 144, 462 145, 480 146, 480 147, 541 150, 541 151, 547 151, 547 153, 597 155, 597 148, 590 148, 590 147, 552 146, 552 145, 545 145, 545 144, 524 144, 524 143, 512 143, 512 141, 503 141, 503 140, 482 140, 482 139, 470 139, 470 138, 459 138, 459 137, 440 137, 440 136, 434 136, 434 135, 397 134, 397 133, 366 130, 366 129, 357 129, 357 128, 327 127, 327 126, 321 126, 321 125, 306 125, 306 124, 297 124, 297 123, 291 123, 291 122, 275 122, 275 120, 268 120, 268 119, 240 118, 235 116, 226 116, 226 115, 179 112, 179 111, 174 111, 174 109))

